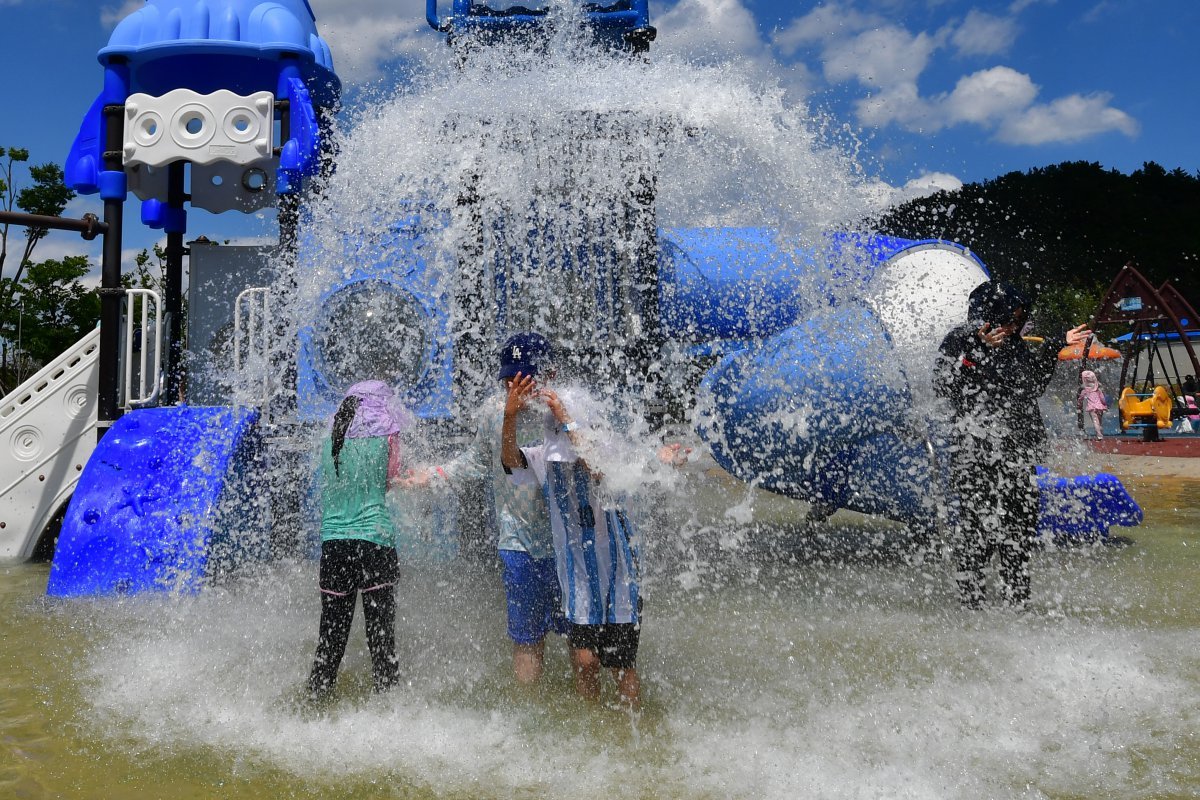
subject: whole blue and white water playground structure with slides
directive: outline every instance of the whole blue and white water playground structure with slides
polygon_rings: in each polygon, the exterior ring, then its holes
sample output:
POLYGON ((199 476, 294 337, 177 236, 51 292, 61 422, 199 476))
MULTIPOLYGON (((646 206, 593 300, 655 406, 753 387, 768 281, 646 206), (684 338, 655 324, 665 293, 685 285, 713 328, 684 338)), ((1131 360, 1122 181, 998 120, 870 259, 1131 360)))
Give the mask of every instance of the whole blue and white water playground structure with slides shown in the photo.
MULTIPOLYGON (((428 0, 427 19, 467 59, 536 42, 557 10, 454 0, 443 16, 428 0)), ((644 58, 655 36, 644 0, 582 4, 574 19, 607 58, 644 58)), ((98 59, 103 90, 66 175, 100 194, 103 219, 43 223, 104 236, 101 325, 0 407, 0 554, 54 543, 48 594, 192 591, 271 558, 304 491, 268 477, 295 470, 296 432, 347 384, 385 371, 419 416, 461 427, 490 386, 494 348, 530 326, 552 332, 566 367, 636 397, 652 425, 680 402, 672 371, 704 363, 683 402, 695 401, 713 458, 809 503, 816 519, 848 509, 922 536, 938 528, 943 467, 920 409, 937 343, 986 278, 968 248, 662 228, 667 124, 590 110, 450 116, 443 134, 467 162, 451 201, 402 197, 374 212, 372 235, 331 231, 306 209, 330 174, 340 82, 307 2, 150 0, 98 59), (530 166, 530 181, 538 167, 548 182, 520 203, 494 197, 494 170, 512 164, 480 155, 511 161, 546 139, 572 156, 530 166), (620 169, 581 181, 613 144, 620 169), (128 192, 167 234, 162 297, 120 288, 128 192), (276 206, 280 245, 192 243, 188 355, 217 368, 188 372, 185 403, 188 203, 276 206), (296 287, 330 263, 317 289, 296 287), (298 307, 307 321, 282 325, 298 307)), ((1039 486, 1048 536, 1103 537, 1141 519, 1111 475, 1045 474, 1039 486)))

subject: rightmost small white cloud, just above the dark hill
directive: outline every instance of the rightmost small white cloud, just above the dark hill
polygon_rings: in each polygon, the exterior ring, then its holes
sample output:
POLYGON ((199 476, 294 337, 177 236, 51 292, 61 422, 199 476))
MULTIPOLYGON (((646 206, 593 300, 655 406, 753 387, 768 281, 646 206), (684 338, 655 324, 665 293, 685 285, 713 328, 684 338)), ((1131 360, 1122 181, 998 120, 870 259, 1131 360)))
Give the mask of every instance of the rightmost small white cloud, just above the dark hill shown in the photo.
POLYGON ((1042 106, 1033 106, 1006 119, 996 138, 1007 144, 1048 144, 1080 142, 1092 136, 1118 131, 1128 137, 1138 134, 1135 119, 1112 108, 1108 92, 1069 95, 1042 106))

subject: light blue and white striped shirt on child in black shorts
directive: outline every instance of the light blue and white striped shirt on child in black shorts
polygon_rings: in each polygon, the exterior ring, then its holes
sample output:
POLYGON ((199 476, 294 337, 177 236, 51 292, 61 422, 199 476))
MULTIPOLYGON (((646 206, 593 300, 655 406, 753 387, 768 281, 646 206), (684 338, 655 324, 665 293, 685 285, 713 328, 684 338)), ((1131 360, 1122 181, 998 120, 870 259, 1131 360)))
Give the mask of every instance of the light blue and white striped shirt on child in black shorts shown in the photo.
POLYGON ((637 539, 623 509, 595 501, 590 473, 562 440, 522 447, 518 485, 541 485, 554 536, 563 614, 576 625, 636 622, 641 594, 637 539))

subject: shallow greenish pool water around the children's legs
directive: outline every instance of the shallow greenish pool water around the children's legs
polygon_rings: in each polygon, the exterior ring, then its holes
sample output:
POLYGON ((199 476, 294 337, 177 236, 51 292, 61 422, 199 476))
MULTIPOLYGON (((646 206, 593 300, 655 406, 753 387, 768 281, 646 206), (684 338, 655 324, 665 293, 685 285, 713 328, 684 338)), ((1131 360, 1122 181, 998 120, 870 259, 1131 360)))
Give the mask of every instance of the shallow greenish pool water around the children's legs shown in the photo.
POLYGON ((370 693, 356 622, 323 710, 298 702, 312 563, 199 596, 61 603, 42 597, 44 565, 4 567, 0 795, 1200 792, 1200 482, 1133 483, 1146 522, 1120 531, 1130 546, 1043 552, 1028 613, 970 614, 944 564, 876 546, 889 525, 805 530, 794 504, 739 515, 744 489, 689 481, 704 503, 668 504, 647 530, 636 721, 572 697, 559 640, 539 690, 512 685, 491 564, 408 569, 406 685, 370 693))

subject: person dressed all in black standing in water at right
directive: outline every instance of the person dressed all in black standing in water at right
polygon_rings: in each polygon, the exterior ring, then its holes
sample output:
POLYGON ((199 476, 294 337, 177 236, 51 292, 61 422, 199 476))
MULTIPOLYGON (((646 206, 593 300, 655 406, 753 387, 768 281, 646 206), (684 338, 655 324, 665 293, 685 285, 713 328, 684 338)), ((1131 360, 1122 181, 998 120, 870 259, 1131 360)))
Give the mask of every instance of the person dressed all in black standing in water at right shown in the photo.
POLYGON ((1020 336, 1030 305, 1009 284, 978 285, 967 321, 942 341, 935 367, 934 389, 952 409, 955 579, 968 607, 984 601, 983 571, 992 557, 1002 600, 1024 606, 1030 599, 1030 548, 1038 525, 1034 474, 1046 455, 1038 398, 1058 350, 1091 336, 1080 325, 1031 348, 1020 336))

